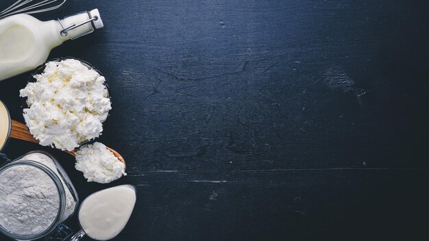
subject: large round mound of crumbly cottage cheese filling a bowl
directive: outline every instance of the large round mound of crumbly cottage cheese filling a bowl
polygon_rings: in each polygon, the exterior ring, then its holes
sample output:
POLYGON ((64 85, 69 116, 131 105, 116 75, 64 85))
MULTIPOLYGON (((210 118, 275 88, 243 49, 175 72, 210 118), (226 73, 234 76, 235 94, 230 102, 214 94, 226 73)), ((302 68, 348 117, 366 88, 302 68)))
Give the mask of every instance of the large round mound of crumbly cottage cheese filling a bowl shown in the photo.
POLYGON ((103 76, 79 60, 48 62, 36 82, 20 91, 27 97, 25 123, 42 146, 73 151, 97 138, 112 109, 103 76))

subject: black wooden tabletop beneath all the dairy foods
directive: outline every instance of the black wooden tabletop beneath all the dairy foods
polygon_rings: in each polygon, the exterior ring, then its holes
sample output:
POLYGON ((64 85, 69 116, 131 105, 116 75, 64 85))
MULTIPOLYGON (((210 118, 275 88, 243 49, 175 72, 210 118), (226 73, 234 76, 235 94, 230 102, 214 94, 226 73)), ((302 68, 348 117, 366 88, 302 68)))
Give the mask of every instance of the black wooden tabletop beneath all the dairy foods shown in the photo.
MULTIPOLYGON (((68 155, 17 140, 5 152, 49 150, 81 199, 136 186, 114 240, 427 236, 428 1, 67 1, 36 16, 93 8, 105 27, 50 58, 106 75, 99 141, 127 177, 86 183, 68 155)), ((28 76, 0 83, 17 121, 28 76)))

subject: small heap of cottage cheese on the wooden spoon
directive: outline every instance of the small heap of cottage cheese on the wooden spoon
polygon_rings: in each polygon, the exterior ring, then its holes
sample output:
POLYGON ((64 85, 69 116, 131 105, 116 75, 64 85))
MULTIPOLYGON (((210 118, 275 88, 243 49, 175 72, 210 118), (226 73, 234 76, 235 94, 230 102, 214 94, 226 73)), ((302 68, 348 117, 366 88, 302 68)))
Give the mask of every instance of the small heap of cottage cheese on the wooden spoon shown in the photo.
POLYGON ((125 165, 104 144, 86 144, 76 151, 75 168, 84 173, 88 181, 109 183, 127 175, 125 165))

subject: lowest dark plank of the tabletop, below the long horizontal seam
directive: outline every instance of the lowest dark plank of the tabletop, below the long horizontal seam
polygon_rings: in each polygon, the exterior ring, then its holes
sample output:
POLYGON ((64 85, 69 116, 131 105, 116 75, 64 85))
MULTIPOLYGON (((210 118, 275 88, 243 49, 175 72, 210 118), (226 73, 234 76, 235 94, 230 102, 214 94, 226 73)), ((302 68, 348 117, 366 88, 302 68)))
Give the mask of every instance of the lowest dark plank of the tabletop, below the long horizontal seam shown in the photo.
POLYGON ((428 170, 148 171, 130 175, 140 208, 118 240, 388 238, 428 213, 428 170), (330 177, 330 178, 327 178, 330 177))

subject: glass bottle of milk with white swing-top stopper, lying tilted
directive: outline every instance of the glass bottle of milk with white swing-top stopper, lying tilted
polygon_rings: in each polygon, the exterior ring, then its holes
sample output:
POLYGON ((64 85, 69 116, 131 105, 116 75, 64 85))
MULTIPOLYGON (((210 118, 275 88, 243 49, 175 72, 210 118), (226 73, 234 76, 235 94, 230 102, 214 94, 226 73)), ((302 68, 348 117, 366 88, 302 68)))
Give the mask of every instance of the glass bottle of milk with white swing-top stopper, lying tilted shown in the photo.
POLYGON ((97 9, 42 22, 28 14, 0 19, 0 81, 43 64, 51 49, 103 27, 97 9))

